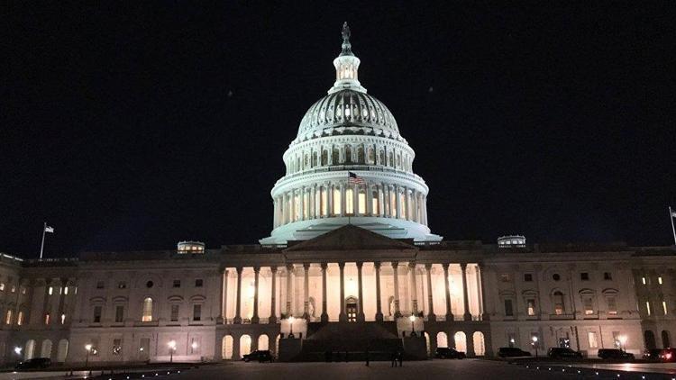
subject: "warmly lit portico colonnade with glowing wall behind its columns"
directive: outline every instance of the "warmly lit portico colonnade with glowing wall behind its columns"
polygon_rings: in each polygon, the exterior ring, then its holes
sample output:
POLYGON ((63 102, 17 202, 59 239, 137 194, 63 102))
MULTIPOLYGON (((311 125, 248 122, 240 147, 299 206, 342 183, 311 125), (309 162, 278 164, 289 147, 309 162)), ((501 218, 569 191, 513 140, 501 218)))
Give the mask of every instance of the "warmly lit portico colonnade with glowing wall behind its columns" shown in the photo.
MULTIPOLYGON (((288 264, 286 267, 269 267, 269 273, 266 273, 266 275, 271 277, 271 281, 269 281, 269 284, 264 288, 265 291, 262 292, 263 296, 268 298, 267 300, 260 300, 261 268, 252 267, 253 283, 251 284, 249 296, 252 297, 253 304, 247 315, 242 316, 242 297, 245 296, 242 295, 242 288, 244 288, 244 285, 242 285, 242 272, 244 269, 244 267, 228 267, 224 269, 224 281, 221 289, 221 315, 224 317, 226 323, 260 323, 260 301, 267 303, 265 305, 266 309, 269 304, 268 323, 278 323, 279 317, 284 318, 291 315, 303 317, 307 320, 315 319, 318 321, 330 321, 328 303, 338 303, 338 321, 383 321, 386 319, 385 313, 382 310, 382 296, 384 294, 382 289, 383 281, 387 282, 387 295, 390 298, 390 302, 388 302, 390 310, 387 311, 388 319, 391 318, 394 320, 404 316, 404 312, 415 315, 424 314, 428 321, 436 321, 437 318, 445 321, 452 321, 455 318, 460 318, 463 321, 488 319, 488 314, 485 312, 485 297, 483 296, 483 294, 485 294, 485 289, 483 288, 483 282, 480 278, 480 264, 417 264, 416 262, 399 263, 397 261, 390 261, 382 263, 379 261, 360 261, 351 263, 296 263, 288 264), (375 275, 374 288, 364 285, 362 271, 365 264, 369 267, 372 266, 373 268, 372 272, 373 275, 375 275), (352 277, 350 278, 352 287, 346 285, 346 265, 348 265, 351 270, 356 267, 356 286, 353 283, 352 277), (468 265, 471 267, 471 272, 469 273, 470 281, 468 281, 468 265), (336 266, 338 267, 339 275, 334 282, 337 284, 328 284, 328 269, 329 267, 336 266), (321 287, 322 302, 321 305, 316 305, 319 312, 321 312, 320 316, 318 318, 313 318, 312 314, 315 313, 315 305, 314 303, 311 305, 310 269, 313 268, 316 274, 317 267, 321 270, 321 282, 315 281, 315 287, 313 289, 315 289, 316 292, 318 288, 321 287), (441 267, 442 270, 439 270, 439 267, 441 267), (460 273, 451 275, 449 272, 450 268, 452 268, 454 272, 457 272, 457 269, 460 268, 460 273), (390 273, 391 270, 391 275, 383 275, 381 273, 383 269, 387 269, 388 273, 390 273), (442 271, 443 275, 441 273, 442 271), (438 276, 443 276, 443 299, 445 298, 445 302, 435 300, 435 297, 439 296, 441 289, 437 289, 433 286, 433 272, 435 283, 441 282, 438 276), (228 292, 227 286, 229 281, 226 279, 231 274, 236 275, 236 279, 230 281, 230 286, 233 286, 233 291, 228 292), (460 276, 461 281, 456 280, 455 283, 457 284, 454 283, 452 285, 450 281, 452 276, 460 276), (294 281, 295 279, 297 281, 294 281), (405 279, 405 283, 400 286, 399 282, 402 279, 405 279), (280 289, 277 288, 278 285, 280 289), (338 289, 335 289, 335 286, 337 286, 338 289), (460 286, 460 289, 458 289, 458 286, 460 286), (330 287, 332 288, 331 293, 329 293, 330 287), (349 294, 346 294, 346 290, 349 291, 349 294), (375 293, 375 296, 370 294, 370 297, 365 297, 365 292, 367 291, 375 293), (401 294, 402 292, 403 294, 401 294), (277 299, 278 294, 282 299, 277 299), (462 300, 461 309, 456 308, 455 315, 452 310, 452 297, 458 301, 460 301, 460 298, 462 300), (351 302, 354 303, 350 303, 352 308, 356 306, 356 318, 350 320, 348 318, 348 312, 346 311, 346 307, 348 306, 347 298, 353 300, 351 302), (470 299, 473 306, 472 308, 470 308, 470 299), (367 308, 365 308, 365 302, 370 303, 367 305, 367 308), (372 307, 373 303, 375 303, 375 308, 372 307), (408 310, 403 310, 402 303, 407 304, 408 310), (445 310, 434 310, 435 303, 437 306, 443 304, 445 310), (294 307, 294 305, 296 305, 296 307, 294 307), (302 310, 299 307, 300 305, 302 305, 302 310), (371 312, 374 311, 374 313, 367 317, 365 313, 365 310, 367 309, 371 312), (461 313, 458 312, 459 310, 461 310, 461 313), (230 316, 233 318, 229 318, 230 316)), ((250 269, 247 268, 247 270, 250 269)), ((249 272, 249 275, 251 275, 251 272, 249 272)), ((316 294, 316 296, 319 296, 319 294, 316 294)), ((458 306, 460 307, 460 305, 458 306)), ((335 313, 333 313, 333 316, 334 315, 335 313)))

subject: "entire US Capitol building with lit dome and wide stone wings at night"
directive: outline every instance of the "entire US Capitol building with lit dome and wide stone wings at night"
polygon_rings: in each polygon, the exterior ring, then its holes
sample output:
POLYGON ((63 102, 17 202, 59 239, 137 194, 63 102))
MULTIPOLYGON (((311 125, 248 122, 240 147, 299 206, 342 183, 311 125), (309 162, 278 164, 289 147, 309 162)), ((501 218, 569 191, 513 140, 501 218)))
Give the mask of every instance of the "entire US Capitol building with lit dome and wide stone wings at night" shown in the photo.
POLYGON ((443 240, 388 107, 359 80, 350 31, 335 82, 306 112, 259 244, 0 254, 0 357, 54 362, 280 360, 404 349, 673 344, 676 247, 443 240))

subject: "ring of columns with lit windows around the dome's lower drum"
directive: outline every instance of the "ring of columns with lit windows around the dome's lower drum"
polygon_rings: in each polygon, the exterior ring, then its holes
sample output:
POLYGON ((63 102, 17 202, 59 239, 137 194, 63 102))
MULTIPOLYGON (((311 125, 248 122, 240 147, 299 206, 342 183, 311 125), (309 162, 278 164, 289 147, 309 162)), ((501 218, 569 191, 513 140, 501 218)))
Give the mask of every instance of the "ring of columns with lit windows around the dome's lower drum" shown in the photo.
POLYGON ((427 225, 427 197, 424 193, 401 185, 325 183, 302 186, 273 199, 274 227, 291 222, 319 218, 357 215, 406 219, 427 225), (348 213, 347 192, 352 190, 352 213, 348 213), (334 199, 337 192, 339 199, 334 199), (375 196, 374 196, 375 193, 375 196), (360 194, 365 203, 360 213, 360 194), (404 196, 401 196, 404 195, 404 196), (374 202, 375 201, 375 202, 374 202), (337 207, 335 202, 339 204, 337 207))

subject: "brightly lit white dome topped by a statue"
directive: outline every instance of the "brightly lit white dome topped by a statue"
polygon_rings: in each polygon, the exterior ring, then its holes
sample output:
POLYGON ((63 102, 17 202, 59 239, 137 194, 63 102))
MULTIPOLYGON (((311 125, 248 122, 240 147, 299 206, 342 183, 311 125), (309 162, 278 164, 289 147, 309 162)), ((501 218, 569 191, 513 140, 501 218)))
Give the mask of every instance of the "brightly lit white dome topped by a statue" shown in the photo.
POLYGON ((346 23, 335 82, 284 152, 287 173, 270 193, 273 230, 261 244, 309 240, 345 224, 393 239, 442 240, 427 227, 429 188, 413 172, 416 152, 388 107, 361 86, 359 65, 346 23))

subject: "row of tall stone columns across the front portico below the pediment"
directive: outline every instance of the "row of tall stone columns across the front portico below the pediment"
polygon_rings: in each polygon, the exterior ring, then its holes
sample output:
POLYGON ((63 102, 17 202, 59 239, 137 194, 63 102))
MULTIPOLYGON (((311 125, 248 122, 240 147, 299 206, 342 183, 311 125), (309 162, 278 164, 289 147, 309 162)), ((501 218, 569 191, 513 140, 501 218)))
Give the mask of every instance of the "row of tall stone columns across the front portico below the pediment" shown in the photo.
MULTIPOLYGON (((357 262, 357 286, 358 286, 358 303, 359 303, 359 312, 357 313, 357 321, 365 321, 365 315, 364 315, 364 304, 363 304, 363 282, 362 282, 362 276, 361 276, 361 269, 363 267, 363 262, 357 262)), ((402 314, 399 309, 399 276, 398 276, 398 267, 399 263, 397 261, 392 261, 390 262, 392 266, 392 270, 394 272, 394 316, 395 318, 401 317, 402 314)), ((410 276, 410 281, 411 281, 411 289, 416 289, 416 274, 415 274, 415 268, 416 268, 416 263, 409 263, 409 267, 412 269, 411 273, 412 276, 410 276)), ((444 283, 444 294, 446 297, 446 311, 445 311, 445 316, 446 316, 446 321, 453 321, 453 314, 451 310, 451 287, 449 285, 449 280, 448 280, 448 268, 451 265, 451 263, 443 263, 443 283, 444 283)), ((433 291, 432 291, 432 266, 433 264, 431 263, 426 263, 425 264, 425 272, 426 272, 426 285, 427 285, 427 303, 429 303, 429 310, 427 314, 427 319, 428 321, 435 321, 435 313, 434 313, 434 297, 433 297, 433 291)), ((467 263, 461 263, 461 277, 462 277, 462 292, 463 292, 463 302, 464 302, 464 313, 462 315, 462 318, 464 321, 471 321, 471 313, 470 313, 470 301, 469 301, 469 294, 468 294, 468 289, 467 289, 467 263)), ((322 314, 321 314, 321 321, 329 321, 329 316, 327 312, 327 286, 326 286, 326 270, 328 267, 328 263, 321 263, 321 268, 322 268, 322 314)), ((382 313, 382 306, 381 306, 381 296, 380 296, 380 267, 381 263, 379 261, 374 262, 374 267, 376 270, 376 321, 383 321, 383 313, 382 313)), ((341 262, 338 263, 338 268, 340 270, 340 297, 341 297, 341 303, 340 303, 340 314, 338 316, 338 321, 347 321, 347 314, 345 312, 345 263, 341 262)), ((235 270, 237 271, 237 299, 235 301, 235 316, 233 319, 234 323, 242 323, 242 267, 237 267, 235 270)), ((277 271, 278 267, 270 267, 272 271, 272 289, 271 289, 271 299, 270 299, 270 310, 271 310, 271 316, 269 318, 269 323, 276 323, 277 322, 277 317, 276 317, 276 299, 275 299, 275 294, 277 293, 276 289, 276 279, 277 279, 277 271)), ((287 273, 290 274, 291 271, 294 269, 293 264, 288 264, 287 265, 287 273)), ((253 267, 254 270, 254 294, 253 294, 253 316, 251 317, 251 323, 259 323, 260 322, 260 317, 258 315, 258 303, 259 303, 259 295, 258 295, 258 289, 259 289, 259 274, 260 274, 260 267, 253 267)), ((309 270, 310 270, 310 263, 303 263, 303 317, 306 319, 309 319, 309 270)), ((485 287, 483 284, 483 281, 480 278, 481 276, 481 270, 480 270, 480 264, 477 265, 477 282, 479 283, 479 303, 480 303, 480 313, 481 317, 483 320, 488 320, 489 319, 489 314, 486 312, 486 304, 485 300, 486 297, 484 296, 485 294, 485 287)), ((227 277, 227 269, 225 270, 225 276, 224 278, 227 277)), ((224 305, 227 302, 225 292, 227 291, 226 289, 226 282, 224 281, 224 286, 222 286, 221 291, 223 292, 223 307, 222 307, 222 315, 224 315, 224 305)), ((291 310, 291 304, 292 304, 292 278, 291 276, 287 276, 287 300, 286 300, 286 314, 291 315, 292 310, 291 310)), ((418 312, 418 306, 417 306, 417 293, 414 291, 412 292, 412 312, 417 313, 418 312)))

